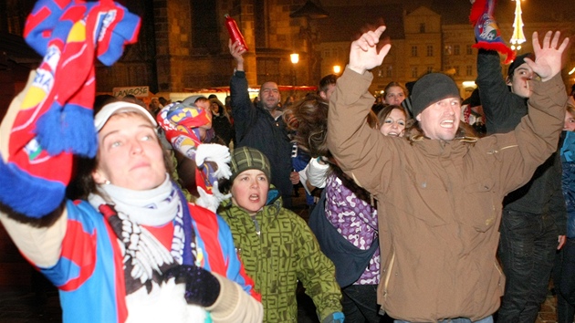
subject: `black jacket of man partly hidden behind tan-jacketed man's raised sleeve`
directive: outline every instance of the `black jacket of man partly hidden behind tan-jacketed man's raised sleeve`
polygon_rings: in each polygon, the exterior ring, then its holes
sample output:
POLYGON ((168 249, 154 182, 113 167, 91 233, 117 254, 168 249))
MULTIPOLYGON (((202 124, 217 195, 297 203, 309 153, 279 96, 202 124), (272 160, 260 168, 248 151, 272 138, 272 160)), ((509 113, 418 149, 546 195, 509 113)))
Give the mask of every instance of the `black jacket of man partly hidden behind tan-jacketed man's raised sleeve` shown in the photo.
MULTIPOLYGON (((477 55, 477 87, 484 113, 487 134, 505 133, 515 129, 528 113, 528 100, 509 91, 501 77, 501 64, 496 51, 479 50, 477 55)), ((561 190, 561 162, 553 153, 541 164, 526 185, 509 193, 504 209, 528 214, 551 214, 559 234, 565 234, 567 211, 561 190)))

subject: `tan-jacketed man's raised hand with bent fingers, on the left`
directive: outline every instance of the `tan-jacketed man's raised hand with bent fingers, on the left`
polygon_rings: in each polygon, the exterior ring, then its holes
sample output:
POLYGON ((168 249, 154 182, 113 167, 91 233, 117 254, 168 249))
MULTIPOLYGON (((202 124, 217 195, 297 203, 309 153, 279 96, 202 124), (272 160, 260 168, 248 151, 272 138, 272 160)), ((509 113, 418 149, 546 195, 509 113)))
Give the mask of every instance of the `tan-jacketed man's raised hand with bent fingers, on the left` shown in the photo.
POLYGON ((351 43, 350 64, 348 68, 363 74, 368 69, 382 65, 383 57, 390 51, 392 45, 384 45, 378 52, 377 44, 380 36, 385 31, 385 26, 379 26, 375 30, 368 31, 351 43))

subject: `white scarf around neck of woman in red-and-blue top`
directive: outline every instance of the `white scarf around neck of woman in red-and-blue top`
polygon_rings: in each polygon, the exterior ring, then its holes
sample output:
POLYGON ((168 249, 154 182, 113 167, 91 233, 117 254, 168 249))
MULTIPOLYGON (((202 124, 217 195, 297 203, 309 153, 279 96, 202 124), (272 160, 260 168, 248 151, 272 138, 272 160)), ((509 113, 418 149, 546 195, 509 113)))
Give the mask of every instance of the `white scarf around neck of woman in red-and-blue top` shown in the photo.
POLYGON ((170 177, 152 190, 133 191, 112 184, 99 185, 100 194, 90 194, 89 203, 99 210, 102 204, 111 205, 118 218, 110 218, 112 229, 120 240, 128 294, 142 286, 151 291, 151 281, 160 283, 162 268, 183 263, 183 230, 174 228, 171 250, 141 225, 161 226, 175 220, 183 224, 183 207, 177 188, 170 177))

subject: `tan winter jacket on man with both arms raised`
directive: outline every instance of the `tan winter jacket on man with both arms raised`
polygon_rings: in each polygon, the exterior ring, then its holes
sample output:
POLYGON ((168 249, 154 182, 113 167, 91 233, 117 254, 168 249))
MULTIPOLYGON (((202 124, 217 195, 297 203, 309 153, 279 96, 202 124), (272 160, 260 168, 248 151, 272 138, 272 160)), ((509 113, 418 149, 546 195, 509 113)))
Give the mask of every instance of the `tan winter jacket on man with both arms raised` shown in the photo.
POLYGON ((379 200, 382 283, 392 318, 486 318, 505 277, 496 260, 503 197, 556 151, 566 91, 532 81, 528 116, 476 143, 384 137, 365 122, 372 75, 349 68, 329 102, 328 144, 341 168, 379 200))

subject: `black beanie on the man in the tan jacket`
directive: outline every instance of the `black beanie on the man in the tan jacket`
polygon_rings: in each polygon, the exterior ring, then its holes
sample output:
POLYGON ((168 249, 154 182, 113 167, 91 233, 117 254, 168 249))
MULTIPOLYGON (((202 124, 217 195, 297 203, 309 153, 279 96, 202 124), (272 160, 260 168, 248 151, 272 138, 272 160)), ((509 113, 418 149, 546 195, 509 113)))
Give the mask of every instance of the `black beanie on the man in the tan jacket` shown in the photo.
POLYGON ((452 78, 442 73, 429 73, 415 82, 412 91, 413 117, 423 109, 447 98, 461 98, 459 89, 452 78))

